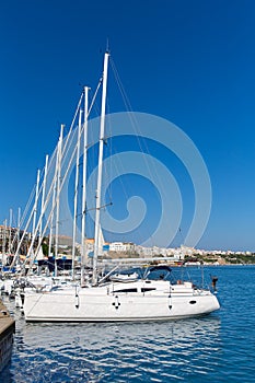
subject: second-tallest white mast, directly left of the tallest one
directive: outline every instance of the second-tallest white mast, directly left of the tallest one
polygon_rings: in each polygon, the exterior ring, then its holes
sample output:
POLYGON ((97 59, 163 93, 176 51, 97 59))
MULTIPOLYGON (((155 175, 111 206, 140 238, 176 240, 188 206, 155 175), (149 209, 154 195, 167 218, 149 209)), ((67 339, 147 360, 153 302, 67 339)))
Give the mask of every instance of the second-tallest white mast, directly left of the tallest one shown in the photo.
POLYGON ((86 146, 88 146, 88 117, 89 117, 89 86, 84 86, 84 129, 83 129, 83 169, 82 169, 82 220, 81 220, 81 281, 83 282, 84 265, 86 264, 85 246, 85 199, 86 199, 86 146))

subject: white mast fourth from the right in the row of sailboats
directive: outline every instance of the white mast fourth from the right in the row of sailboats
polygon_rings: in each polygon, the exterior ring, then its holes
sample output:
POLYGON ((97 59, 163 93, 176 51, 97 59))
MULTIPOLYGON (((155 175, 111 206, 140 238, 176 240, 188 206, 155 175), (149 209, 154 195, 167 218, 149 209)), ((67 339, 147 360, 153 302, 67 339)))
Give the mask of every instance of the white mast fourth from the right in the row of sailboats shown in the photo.
POLYGON ((57 187, 56 187, 56 231, 55 231, 55 277, 58 274, 57 255, 58 255, 58 235, 59 235, 59 194, 60 194, 60 181, 61 181, 61 160, 62 160, 62 132, 65 125, 61 124, 58 148, 58 163, 57 163, 57 187))

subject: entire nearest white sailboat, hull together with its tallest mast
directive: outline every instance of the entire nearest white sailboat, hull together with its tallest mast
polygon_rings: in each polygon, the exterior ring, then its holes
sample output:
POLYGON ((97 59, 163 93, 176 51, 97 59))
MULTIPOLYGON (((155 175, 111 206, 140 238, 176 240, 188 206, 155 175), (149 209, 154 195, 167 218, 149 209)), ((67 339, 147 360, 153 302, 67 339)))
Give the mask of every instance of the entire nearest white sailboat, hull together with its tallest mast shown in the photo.
POLYGON ((100 255, 100 212, 102 163, 105 127, 108 53, 104 57, 102 113, 100 128, 98 174, 96 188, 95 243, 92 282, 76 286, 25 290, 24 315, 28 322, 127 322, 165 321, 209 314, 220 307, 209 289, 199 289, 189 281, 171 283, 149 276, 102 279, 97 274, 100 255))

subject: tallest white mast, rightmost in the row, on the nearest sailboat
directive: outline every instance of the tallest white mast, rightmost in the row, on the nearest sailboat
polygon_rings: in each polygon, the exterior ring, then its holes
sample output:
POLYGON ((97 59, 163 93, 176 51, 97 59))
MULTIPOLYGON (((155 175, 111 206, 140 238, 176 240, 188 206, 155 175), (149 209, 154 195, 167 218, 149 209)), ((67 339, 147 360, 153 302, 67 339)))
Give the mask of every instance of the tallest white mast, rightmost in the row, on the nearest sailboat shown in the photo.
POLYGON ((93 277, 92 282, 97 282, 97 257, 98 257, 98 239, 100 239, 100 209, 101 209, 101 187, 102 187, 102 167, 103 167, 103 149, 104 149, 104 128, 105 128, 105 105, 106 105, 106 89, 107 89, 107 71, 108 71, 109 54, 104 55, 104 72, 103 72, 103 90, 102 90, 102 106, 101 106, 101 124, 100 124, 100 150, 98 150, 98 172, 97 172, 97 187, 95 201, 95 243, 93 256, 93 277))

